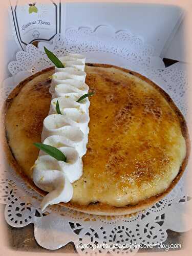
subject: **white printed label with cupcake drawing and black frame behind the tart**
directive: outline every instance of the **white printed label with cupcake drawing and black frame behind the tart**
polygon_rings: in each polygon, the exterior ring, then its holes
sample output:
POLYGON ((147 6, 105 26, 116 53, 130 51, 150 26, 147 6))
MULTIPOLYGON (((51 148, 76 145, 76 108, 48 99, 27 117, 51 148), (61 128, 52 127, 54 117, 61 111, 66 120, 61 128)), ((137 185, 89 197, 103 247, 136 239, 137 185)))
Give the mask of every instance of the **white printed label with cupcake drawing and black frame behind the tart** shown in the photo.
POLYGON ((24 50, 34 41, 51 41, 65 33, 65 4, 58 1, 12 0, 10 16, 17 44, 24 50), (62 9, 62 10, 61 10, 62 9), (61 28, 62 24, 62 28, 61 28))

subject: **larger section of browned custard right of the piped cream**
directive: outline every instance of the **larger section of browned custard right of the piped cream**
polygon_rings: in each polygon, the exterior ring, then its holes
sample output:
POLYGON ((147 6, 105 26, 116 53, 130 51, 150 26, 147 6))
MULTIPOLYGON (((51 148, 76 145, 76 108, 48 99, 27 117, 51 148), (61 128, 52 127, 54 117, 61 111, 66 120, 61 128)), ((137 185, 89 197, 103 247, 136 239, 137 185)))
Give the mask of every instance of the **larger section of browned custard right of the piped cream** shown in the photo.
POLYGON ((177 114, 150 84, 88 67, 90 133, 72 201, 135 204, 166 189, 185 157, 177 114))

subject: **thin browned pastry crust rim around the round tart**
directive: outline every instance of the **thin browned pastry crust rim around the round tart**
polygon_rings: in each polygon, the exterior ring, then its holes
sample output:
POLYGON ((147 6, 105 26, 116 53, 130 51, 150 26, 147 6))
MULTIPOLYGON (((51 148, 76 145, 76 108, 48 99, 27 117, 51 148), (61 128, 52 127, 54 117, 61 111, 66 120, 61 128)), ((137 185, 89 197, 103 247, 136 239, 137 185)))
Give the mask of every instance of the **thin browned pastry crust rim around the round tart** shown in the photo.
MULTIPOLYGON (((180 180, 184 169, 187 165, 187 161, 188 161, 188 157, 189 157, 189 150, 190 150, 190 144, 189 144, 189 136, 188 136, 188 130, 187 130, 187 125, 185 122, 184 117, 182 116, 181 112, 179 111, 179 109, 177 108, 177 106, 175 105, 175 103, 173 102, 173 100, 169 97, 169 95, 167 93, 165 93, 159 86, 157 86, 154 82, 152 82, 151 80, 147 79, 146 77, 130 71, 130 70, 126 70, 126 69, 122 69, 113 65, 104 65, 104 64, 86 64, 87 66, 92 66, 92 67, 102 67, 102 68, 115 68, 121 71, 124 71, 126 73, 130 73, 133 74, 134 76, 142 79, 143 81, 146 81, 147 83, 149 83, 152 87, 154 87, 156 90, 158 90, 160 92, 160 94, 163 96, 163 98, 168 102, 168 104, 170 105, 170 107, 174 110, 174 112, 176 113, 177 117, 179 118, 180 121, 180 126, 181 126, 181 132, 182 135, 185 139, 186 142, 186 156, 181 164, 180 170, 178 175, 176 176, 176 178, 173 180, 172 184, 169 185, 169 187, 163 192, 160 193, 156 196, 150 197, 148 199, 139 201, 139 203, 134 204, 134 205, 126 205, 123 207, 116 207, 116 206, 112 206, 109 204, 105 204, 105 203, 101 203, 101 202, 96 202, 96 203, 90 203, 89 205, 80 205, 74 202, 69 202, 69 203, 60 203, 60 205, 71 208, 71 209, 75 209, 81 212, 86 212, 88 214, 95 214, 95 215, 127 215, 127 214, 132 214, 133 212, 137 212, 139 210, 145 209, 153 204, 155 204, 156 202, 158 202, 160 199, 162 199, 164 196, 166 196, 170 190, 172 190, 175 185, 178 183, 178 181, 180 180)), ((13 99, 19 94, 20 90, 22 90, 22 88, 25 87, 25 84, 27 84, 29 81, 33 80, 35 77, 38 77, 41 74, 44 74, 45 72, 50 72, 53 73, 54 72, 54 68, 48 68, 45 70, 42 70, 40 72, 37 72, 36 74, 28 77, 27 79, 25 79, 24 81, 20 82, 16 88, 10 93, 10 95, 8 96, 6 102, 5 102, 5 108, 4 108, 4 114, 6 115, 7 110, 9 109, 9 106, 11 105, 13 99)), ((46 113, 45 113, 46 115, 46 113)), ((12 153, 11 147, 9 146, 9 137, 8 134, 6 132, 5 129, 5 136, 6 139, 4 140, 4 144, 5 144, 5 150, 6 150, 6 155, 8 157, 8 161, 9 163, 12 165, 12 167, 15 169, 15 171, 17 172, 17 174, 19 176, 21 176, 23 178, 23 180, 30 186, 32 187, 35 191, 37 191, 37 193, 39 193, 41 196, 45 196, 47 193, 46 191, 43 191, 41 189, 39 189, 32 181, 32 179, 30 179, 24 172, 22 167, 20 167, 20 165, 18 164, 15 156, 12 153)))

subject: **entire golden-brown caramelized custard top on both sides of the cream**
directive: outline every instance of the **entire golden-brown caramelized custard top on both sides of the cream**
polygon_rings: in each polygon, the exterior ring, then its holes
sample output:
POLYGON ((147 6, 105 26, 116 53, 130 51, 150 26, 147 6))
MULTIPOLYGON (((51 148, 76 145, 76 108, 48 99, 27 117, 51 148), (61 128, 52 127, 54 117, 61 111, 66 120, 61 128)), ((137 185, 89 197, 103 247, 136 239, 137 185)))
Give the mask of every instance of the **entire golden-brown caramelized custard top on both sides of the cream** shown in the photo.
MULTIPOLYGON (((83 175, 73 183, 72 203, 136 204, 164 191, 186 155, 180 120, 152 84, 114 67, 86 67, 90 133, 83 175)), ((42 121, 50 107, 50 72, 38 76, 14 98, 6 117, 9 145, 30 177, 42 121), (41 81, 41 85, 39 85, 41 81)))

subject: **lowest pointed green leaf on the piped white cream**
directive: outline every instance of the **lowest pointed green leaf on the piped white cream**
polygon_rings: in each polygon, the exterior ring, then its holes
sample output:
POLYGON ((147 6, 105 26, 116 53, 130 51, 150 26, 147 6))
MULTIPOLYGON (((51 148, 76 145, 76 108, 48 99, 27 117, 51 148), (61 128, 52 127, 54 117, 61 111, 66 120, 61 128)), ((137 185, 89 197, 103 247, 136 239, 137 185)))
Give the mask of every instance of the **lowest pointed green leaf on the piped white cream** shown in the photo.
POLYGON ((60 150, 58 150, 58 148, 54 146, 50 146, 42 143, 33 143, 33 145, 38 147, 39 150, 42 150, 48 155, 54 157, 58 161, 66 162, 67 160, 66 156, 60 150))

